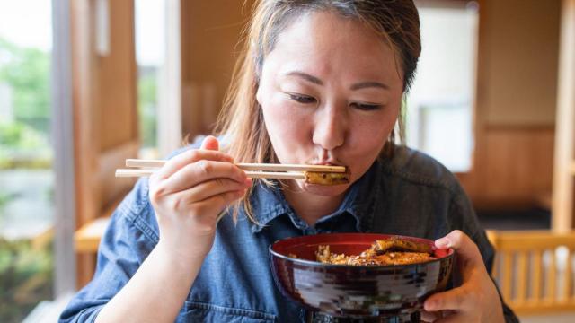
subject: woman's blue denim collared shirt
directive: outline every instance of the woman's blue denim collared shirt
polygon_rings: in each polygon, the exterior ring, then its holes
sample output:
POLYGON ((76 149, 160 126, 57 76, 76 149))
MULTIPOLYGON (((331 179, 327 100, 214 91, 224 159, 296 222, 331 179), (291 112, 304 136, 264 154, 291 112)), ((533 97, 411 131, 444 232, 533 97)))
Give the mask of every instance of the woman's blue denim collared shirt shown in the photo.
MULTIPOLYGON (((259 185, 251 201, 261 225, 243 213, 237 223, 225 216, 217 224, 213 248, 177 322, 305 321, 305 310, 274 284, 268 256, 274 241, 300 235, 376 232, 435 240, 459 229, 477 244, 491 270, 493 248, 464 190, 441 164, 406 147, 397 147, 392 159, 376 161, 349 188, 338 210, 314 226, 297 216, 279 188, 259 185)), ((140 179, 111 217, 92 282, 75 294, 60 322, 93 322, 154 249, 158 235, 147 179, 140 179)), ((507 306, 504 314, 506 321, 517 321, 507 306)))

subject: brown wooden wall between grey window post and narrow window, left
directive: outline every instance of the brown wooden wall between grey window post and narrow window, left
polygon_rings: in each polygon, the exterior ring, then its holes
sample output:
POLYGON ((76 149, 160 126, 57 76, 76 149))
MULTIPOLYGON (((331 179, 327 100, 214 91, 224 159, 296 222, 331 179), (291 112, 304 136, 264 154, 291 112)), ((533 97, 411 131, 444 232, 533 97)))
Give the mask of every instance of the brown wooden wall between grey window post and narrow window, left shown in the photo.
MULTIPOLYGON (((134 2, 108 2, 109 50, 96 50, 96 5, 70 2, 75 124, 76 229, 102 215, 122 198, 133 179, 115 179, 114 170, 137 156, 134 2)), ((77 254, 77 286, 93 276, 95 256, 77 254)))

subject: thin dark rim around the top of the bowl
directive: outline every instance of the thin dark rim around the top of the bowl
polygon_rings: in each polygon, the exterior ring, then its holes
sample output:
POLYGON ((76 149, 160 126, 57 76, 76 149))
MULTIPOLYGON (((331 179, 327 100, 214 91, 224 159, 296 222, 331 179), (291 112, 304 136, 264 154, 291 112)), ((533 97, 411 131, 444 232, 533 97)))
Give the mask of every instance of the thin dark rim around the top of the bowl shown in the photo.
MULTIPOLYGON (((425 238, 418 238, 418 237, 411 237, 411 236, 404 236, 404 235, 398 235, 398 234, 386 234, 386 233, 373 233, 373 232, 333 232, 333 233, 320 233, 320 234, 313 234, 314 236, 328 236, 328 235, 332 235, 332 234, 338 234, 338 235, 351 235, 351 234, 373 234, 373 235, 386 235, 386 236, 395 236, 395 237, 399 237, 399 238, 411 238, 411 239, 417 239, 417 240, 429 240, 429 239, 425 239, 425 238)), ((357 268, 357 269, 379 269, 379 268, 385 268, 385 269, 389 269, 389 268, 403 268, 403 267, 410 267, 410 266, 421 266, 421 265, 428 265, 434 262, 438 262, 438 261, 443 261, 443 260, 447 260, 449 258, 453 258, 456 255, 456 250, 453 248, 449 248, 447 250, 448 254, 446 257, 443 258, 435 258, 435 259, 431 259, 428 261, 422 261, 422 262, 418 262, 418 263, 414 263, 414 264, 406 264, 406 265, 340 265, 340 264, 324 264, 321 263, 319 261, 314 261, 314 260, 306 260, 306 259, 299 259, 299 258, 291 258, 285 255, 280 254, 278 251, 274 251, 272 248, 273 246, 278 243, 279 241, 284 241, 284 240, 290 240, 290 239, 297 239, 297 238, 302 238, 302 237, 308 237, 308 236, 297 236, 297 237, 290 237, 290 238, 286 238, 286 239, 281 239, 281 240, 276 240, 274 241, 272 244, 270 244, 270 246, 268 247, 268 251, 270 252, 270 254, 276 258, 281 258, 283 260, 288 260, 291 261, 295 264, 298 265, 305 265, 305 266, 314 266, 314 267, 321 267, 321 268, 357 268)), ((429 240, 430 241, 430 240, 429 240)))

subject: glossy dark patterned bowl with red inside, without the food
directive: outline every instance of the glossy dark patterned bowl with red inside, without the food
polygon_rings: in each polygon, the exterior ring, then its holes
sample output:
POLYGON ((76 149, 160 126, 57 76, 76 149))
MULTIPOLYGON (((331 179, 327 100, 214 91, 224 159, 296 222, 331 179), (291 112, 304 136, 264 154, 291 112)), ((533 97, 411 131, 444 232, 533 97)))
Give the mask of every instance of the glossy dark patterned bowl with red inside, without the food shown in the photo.
MULTIPOLYGON (((331 233, 279 240, 270 246, 270 263, 279 290, 309 310, 334 317, 406 317, 419 312, 432 293, 445 290, 454 250, 434 249, 436 259, 402 266, 329 265, 313 261, 318 245, 358 255, 392 235, 331 233), (288 255, 297 258, 289 258, 288 255)), ((434 246, 433 241, 402 237, 434 246)))

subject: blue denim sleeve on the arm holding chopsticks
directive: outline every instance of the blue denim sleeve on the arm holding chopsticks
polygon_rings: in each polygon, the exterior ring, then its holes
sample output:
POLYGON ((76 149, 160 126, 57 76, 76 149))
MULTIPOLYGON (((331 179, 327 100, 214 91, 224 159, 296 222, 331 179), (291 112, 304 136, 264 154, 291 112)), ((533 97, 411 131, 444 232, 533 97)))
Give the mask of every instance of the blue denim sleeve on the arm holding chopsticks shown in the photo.
POLYGON ((146 180, 140 179, 112 214, 98 248, 93 279, 75 294, 59 322, 93 322, 154 249, 157 231, 149 222, 155 223, 155 215, 148 202, 146 180))

